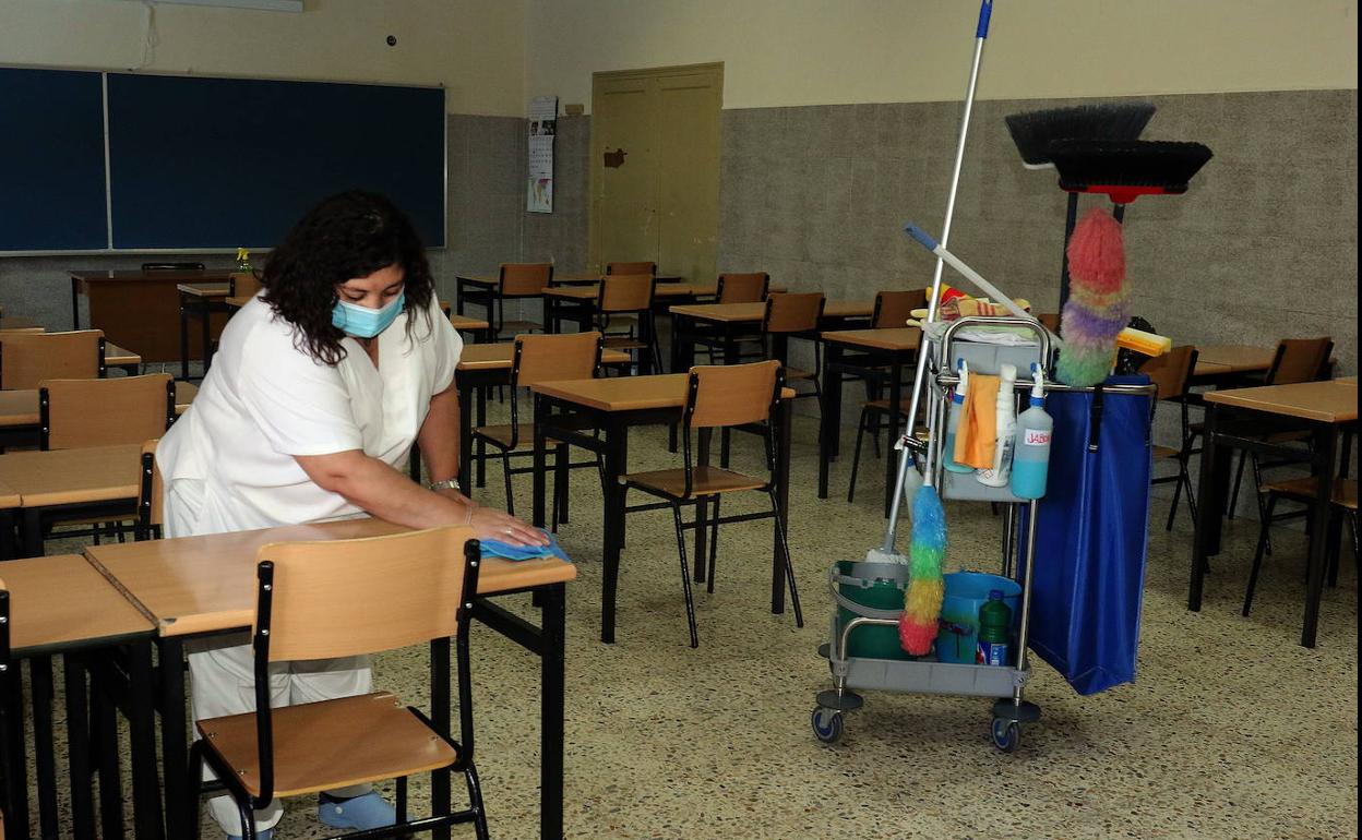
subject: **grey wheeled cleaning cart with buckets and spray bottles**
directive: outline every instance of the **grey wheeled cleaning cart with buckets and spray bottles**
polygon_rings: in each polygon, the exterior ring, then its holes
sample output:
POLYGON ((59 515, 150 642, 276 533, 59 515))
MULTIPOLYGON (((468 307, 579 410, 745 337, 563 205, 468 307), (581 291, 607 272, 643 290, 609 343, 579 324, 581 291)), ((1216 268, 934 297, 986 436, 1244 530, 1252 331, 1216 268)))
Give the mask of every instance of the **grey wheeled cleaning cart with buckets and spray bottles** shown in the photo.
MULTIPOLYGON (((1001 576, 1015 581, 1017 609, 1013 610, 1013 662, 1005 666, 964 664, 959 656, 945 656, 943 640, 949 637, 951 624, 943 622, 934 649, 919 658, 910 658, 898 648, 896 626, 903 611, 903 589, 908 581, 908 566, 902 562, 839 562, 829 570, 829 587, 836 604, 828 641, 819 647, 819 655, 828 660, 832 688, 817 694, 812 713, 814 735, 824 742, 842 737, 844 713, 864 705, 858 692, 899 692, 925 694, 959 694, 992 697, 992 737, 1004 752, 1017 749, 1023 724, 1038 720, 1041 709, 1024 698, 1031 677, 1028 648, 1032 619, 1032 579, 1036 569, 1036 540, 1043 528, 1039 500, 1023 500, 1011 487, 990 487, 974 479, 972 474, 943 468, 941 441, 952 410, 949 391, 959 378, 952 372, 957 361, 966 359, 968 369, 978 373, 998 373, 1001 365, 1011 364, 1028 370, 1036 364, 1049 373, 1054 353, 1051 335, 1035 320, 1020 317, 964 317, 938 327, 938 334, 926 336, 923 359, 926 376, 926 417, 929 429, 940 430, 919 440, 904 438, 904 445, 917 449, 932 472, 930 478, 948 500, 987 501, 1004 505, 1004 538, 1001 546, 1001 576), (1002 343, 998 343, 1002 342, 1002 343), (955 659, 956 662, 952 662, 955 659)), ((1022 380, 1017 389, 1028 389, 1022 380)), ((1071 388, 1051 383, 1046 377, 1046 393, 1094 391, 1071 388)), ((1147 384, 1106 384, 1103 395, 1140 395, 1148 398, 1147 384)), ((959 404, 953 406, 959 411, 959 404)), ((1057 434, 1060 432, 1057 430, 1057 434)), ((1084 445, 1087 441, 1083 441, 1084 445)), ((906 459, 908 463, 910 459, 906 459)), ((910 470, 913 467, 908 467, 910 470)), ((1051 482, 1068 481, 1051 472, 1051 482)), ((1145 483, 1147 486, 1147 483, 1145 483)), ((898 506, 900 500, 896 500, 898 506)), ((1042 560, 1041 562, 1045 562, 1042 560)), ((1143 569, 1143 557, 1141 557, 1143 569)))

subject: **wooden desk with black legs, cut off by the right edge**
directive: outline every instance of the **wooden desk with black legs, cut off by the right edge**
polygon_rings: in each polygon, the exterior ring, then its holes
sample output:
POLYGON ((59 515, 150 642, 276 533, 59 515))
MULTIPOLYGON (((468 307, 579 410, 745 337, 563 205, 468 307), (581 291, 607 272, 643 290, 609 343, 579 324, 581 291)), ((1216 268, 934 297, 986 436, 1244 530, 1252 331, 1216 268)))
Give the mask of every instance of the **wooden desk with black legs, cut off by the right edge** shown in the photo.
POLYGON ((1293 460, 1302 460, 1316 475, 1316 511, 1310 524, 1310 557, 1305 596, 1305 619, 1301 629, 1301 644, 1313 648, 1320 619, 1320 595, 1324 589, 1324 555, 1329 517, 1323 512, 1329 509, 1331 489, 1336 475, 1339 434, 1344 425, 1357 423, 1358 389, 1355 384, 1323 381, 1298 383, 1293 385, 1264 385, 1260 388, 1237 388, 1214 391, 1205 395, 1205 445, 1201 449, 1201 476, 1197 489, 1197 505, 1201 516, 1196 521, 1196 538, 1192 543, 1192 584, 1188 592, 1188 609, 1201 609, 1201 595, 1205 579, 1205 558, 1219 553, 1220 516, 1224 509, 1224 493, 1229 487, 1231 449, 1269 452, 1293 460), (1309 453, 1288 447, 1273 445, 1260 437, 1241 437, 1226 426, 1226 414, 1258 413, 1280 419, 1301 421, 1314 436, 1314 447, 1309 453))

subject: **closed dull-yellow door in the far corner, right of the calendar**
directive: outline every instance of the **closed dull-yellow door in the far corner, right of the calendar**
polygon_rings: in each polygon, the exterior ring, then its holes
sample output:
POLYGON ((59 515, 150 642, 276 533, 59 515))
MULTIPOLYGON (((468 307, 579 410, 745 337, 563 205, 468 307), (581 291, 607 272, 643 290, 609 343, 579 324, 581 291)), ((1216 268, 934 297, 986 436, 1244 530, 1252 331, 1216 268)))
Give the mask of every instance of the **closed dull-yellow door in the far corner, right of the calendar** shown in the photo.
POLYGON ((723 67, 595 74, 590 259, 710 279, 719 229, 723 67))

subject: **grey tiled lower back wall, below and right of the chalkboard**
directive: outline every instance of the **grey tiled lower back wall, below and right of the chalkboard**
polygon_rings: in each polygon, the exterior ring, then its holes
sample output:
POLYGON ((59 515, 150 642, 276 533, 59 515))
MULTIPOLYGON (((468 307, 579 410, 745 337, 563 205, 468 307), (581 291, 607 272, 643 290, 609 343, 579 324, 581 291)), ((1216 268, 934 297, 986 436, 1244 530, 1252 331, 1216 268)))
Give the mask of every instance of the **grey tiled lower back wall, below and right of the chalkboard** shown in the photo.
MULTIPOLYGON (((447 246, 432 249, 429 257, 441 295, 452 300, 455 272, 496 271, 500 263, 520 259, 526 125, 516 117, 452 114, 448 129, 449 230, 447 246)), ((584 248, 584 233, 582 242, 584 248)), ((150 259, 155 256, 3 257, 0 305, 7 314, 33 319, 49 329, 69 329, 69 270, 138 268, 150 259)), ((173 259, 210 268, 232 264, 232 256, 221 253, 173 259)), ((89 323, 86 313, 82 323, 89 323)), ((177 325, 166 324, 166 329, 177 325)))

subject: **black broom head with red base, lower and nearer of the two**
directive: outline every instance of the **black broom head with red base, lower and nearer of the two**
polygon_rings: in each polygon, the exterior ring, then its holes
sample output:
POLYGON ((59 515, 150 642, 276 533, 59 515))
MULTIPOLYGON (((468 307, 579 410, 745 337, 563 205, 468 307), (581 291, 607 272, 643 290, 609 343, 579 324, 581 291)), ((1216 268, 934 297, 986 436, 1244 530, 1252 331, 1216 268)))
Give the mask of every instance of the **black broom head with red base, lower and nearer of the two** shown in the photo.
POLYGON ((1050 159, 1060 170, 1060 189, 1100 192, 1128 204, 1139 196, 1186 192, 1211 150, 1169 140, 1056 140, 1050 159))

